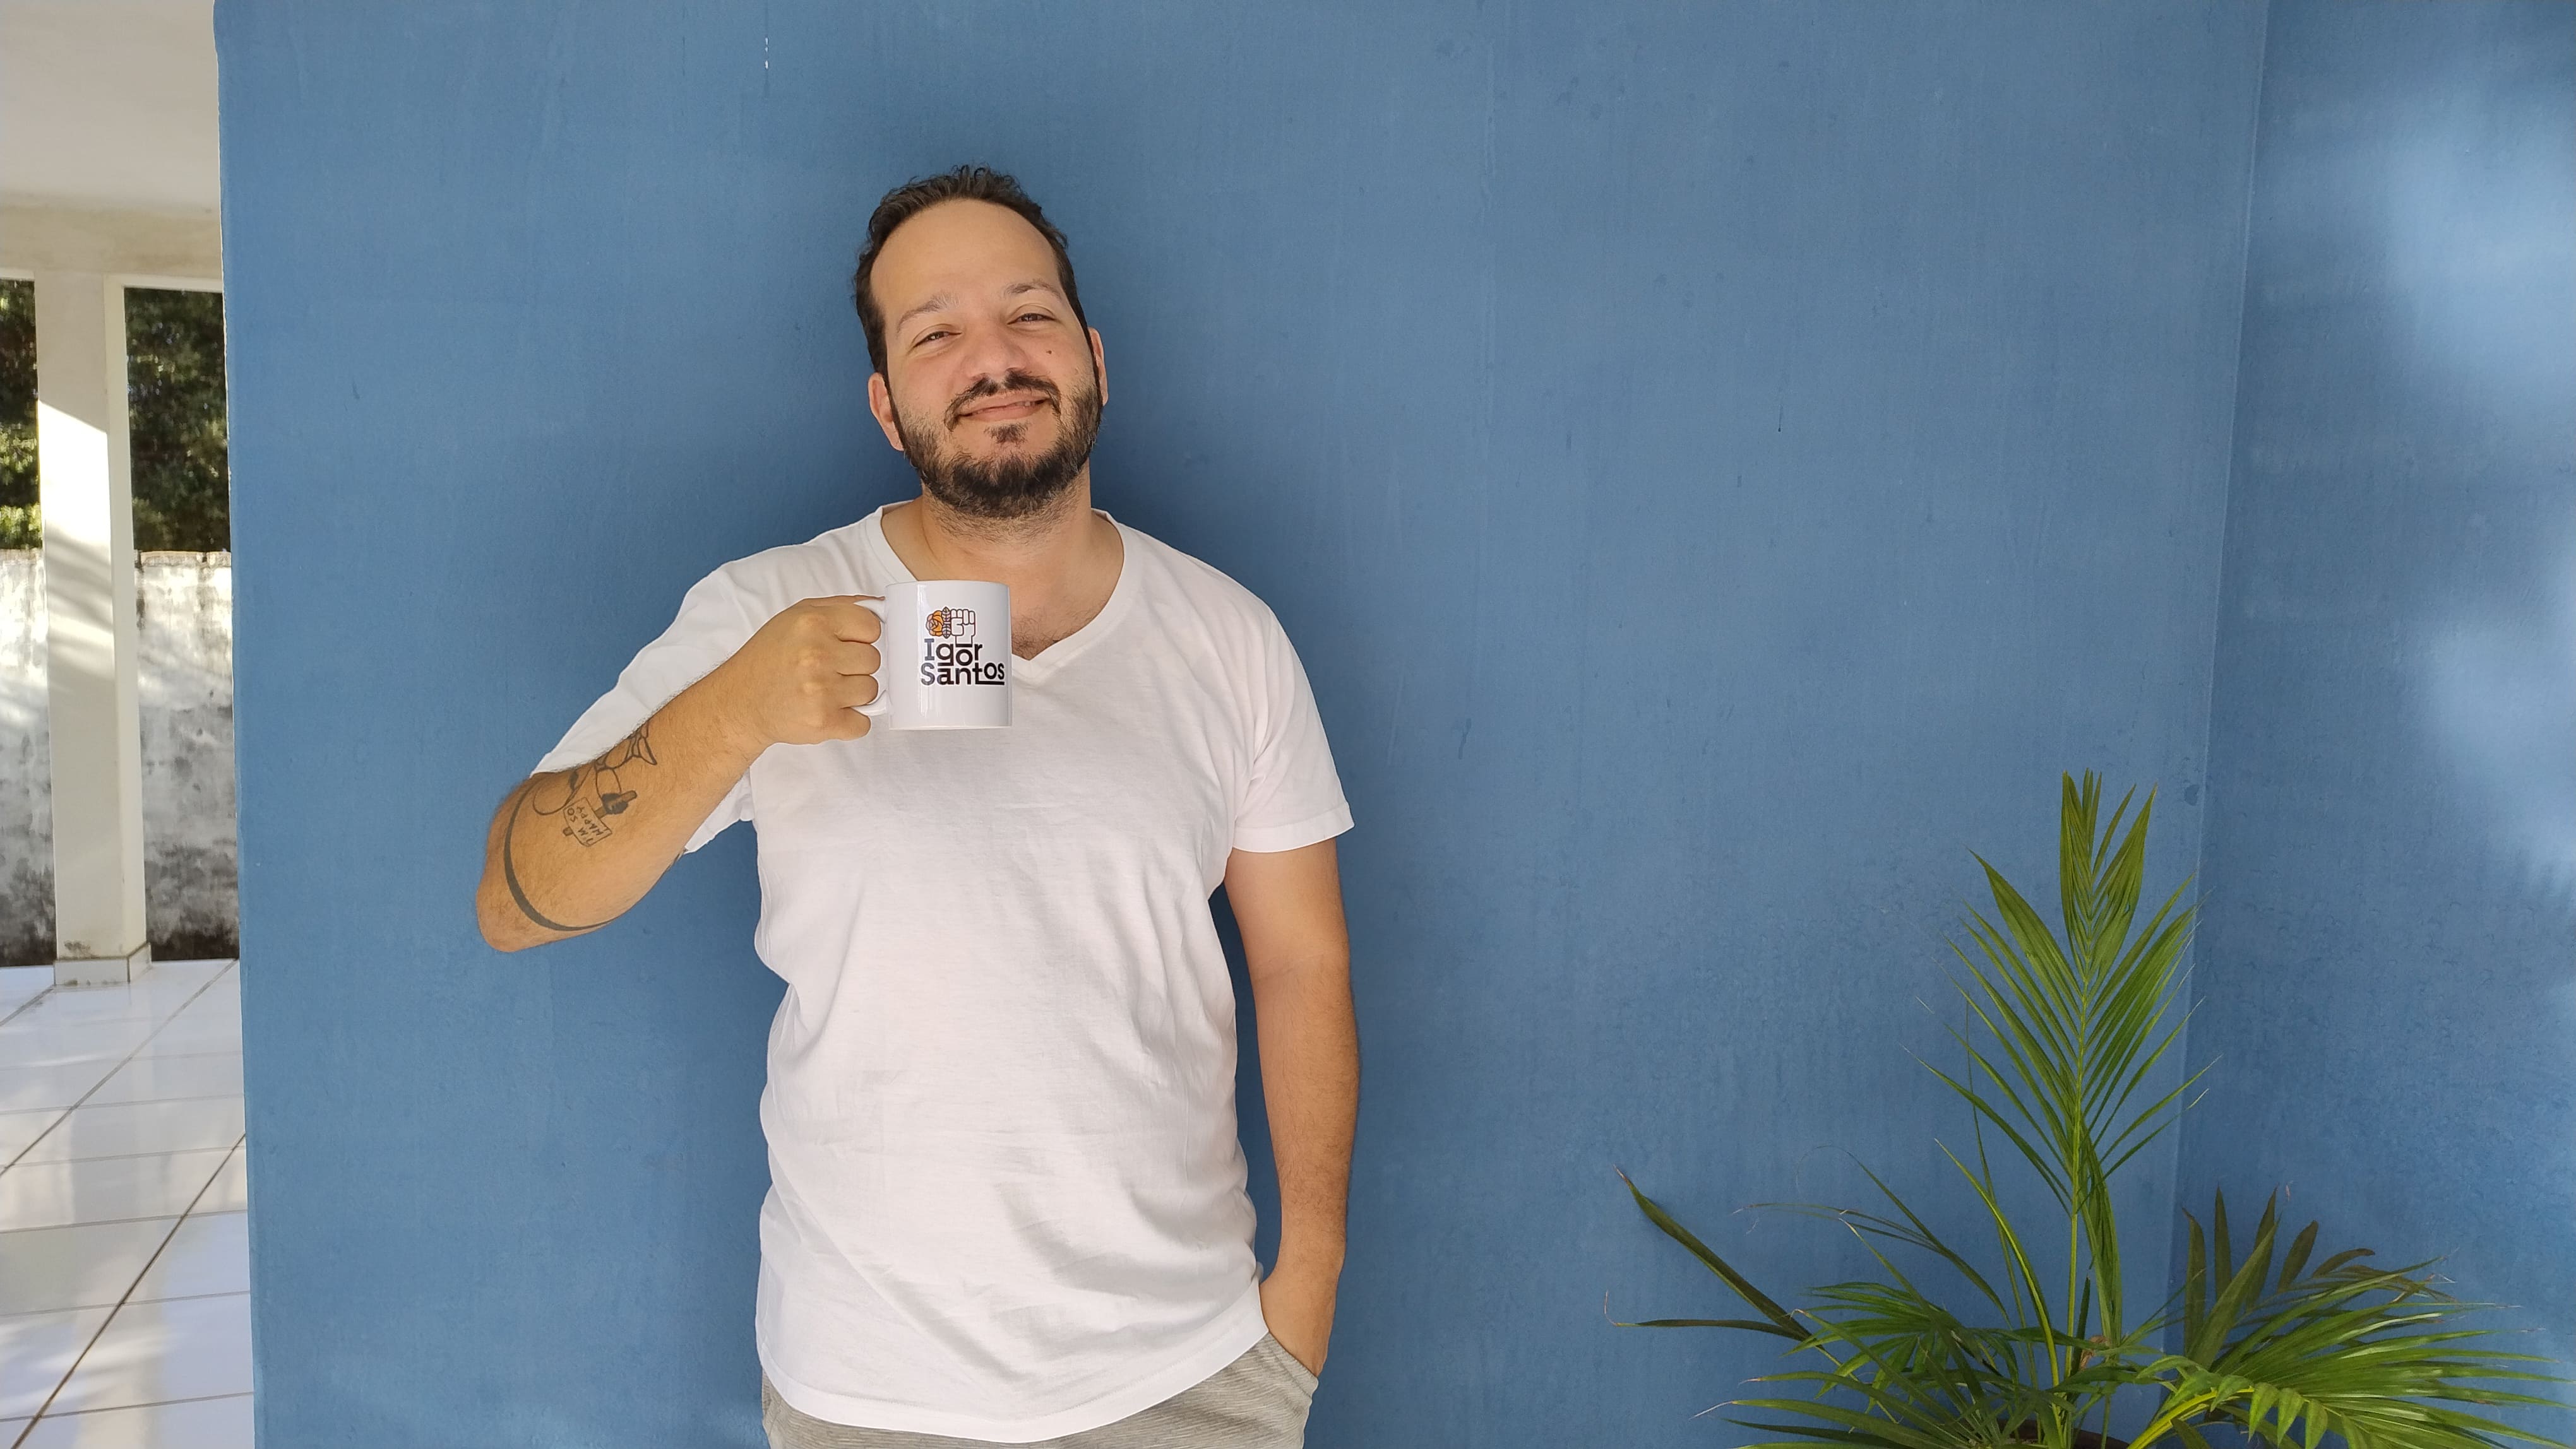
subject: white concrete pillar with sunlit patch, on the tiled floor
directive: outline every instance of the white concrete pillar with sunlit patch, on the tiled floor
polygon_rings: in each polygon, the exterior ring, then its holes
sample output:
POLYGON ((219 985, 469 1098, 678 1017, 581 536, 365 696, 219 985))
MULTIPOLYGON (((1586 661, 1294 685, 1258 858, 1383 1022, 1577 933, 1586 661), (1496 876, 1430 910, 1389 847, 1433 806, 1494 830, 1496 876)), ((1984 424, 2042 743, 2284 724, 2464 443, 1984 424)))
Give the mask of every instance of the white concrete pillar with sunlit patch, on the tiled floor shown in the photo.
POLYGON ((116 278, 36 273, 36 481, 54 726, 54 981, 103 986, 152 965, 126 291, 116 278))

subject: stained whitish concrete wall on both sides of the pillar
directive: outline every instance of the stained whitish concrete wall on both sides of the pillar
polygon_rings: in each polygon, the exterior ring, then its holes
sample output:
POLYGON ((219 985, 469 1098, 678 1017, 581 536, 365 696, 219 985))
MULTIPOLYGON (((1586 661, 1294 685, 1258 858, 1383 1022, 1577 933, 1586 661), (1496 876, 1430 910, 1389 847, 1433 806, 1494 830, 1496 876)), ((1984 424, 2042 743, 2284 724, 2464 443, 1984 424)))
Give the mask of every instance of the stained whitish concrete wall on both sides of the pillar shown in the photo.
MULTIPOLYGON (((152 955, 234 955, 232 556, 144 553, 144 909, 152 955)), ((54 960, 44 556, 0 551, 0 963, 54 960)))

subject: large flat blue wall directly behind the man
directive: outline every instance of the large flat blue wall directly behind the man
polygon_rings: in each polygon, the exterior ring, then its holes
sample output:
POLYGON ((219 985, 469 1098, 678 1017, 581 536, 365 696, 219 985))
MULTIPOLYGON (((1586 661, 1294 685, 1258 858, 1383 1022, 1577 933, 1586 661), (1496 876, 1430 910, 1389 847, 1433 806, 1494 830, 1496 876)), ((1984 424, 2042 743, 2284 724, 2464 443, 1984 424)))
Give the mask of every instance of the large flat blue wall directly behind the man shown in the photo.
POLYGON ((1965 852, 2038 878, 2097 767, 2195 865, 2259 31, 227 0, 263 1444, 755 1441, 747 842, 520 957, 469 893, 690 579, 907 492, 848 265, 963 157, 1074 237, 1103 502, 1278 607, 1360 813, 1311 1441, 1726 1441, 1770 1354, 1605 1325, 1721 1307, 1613 1163, 1842 1274, 1723 1215, 1945 1192, 1965 852))

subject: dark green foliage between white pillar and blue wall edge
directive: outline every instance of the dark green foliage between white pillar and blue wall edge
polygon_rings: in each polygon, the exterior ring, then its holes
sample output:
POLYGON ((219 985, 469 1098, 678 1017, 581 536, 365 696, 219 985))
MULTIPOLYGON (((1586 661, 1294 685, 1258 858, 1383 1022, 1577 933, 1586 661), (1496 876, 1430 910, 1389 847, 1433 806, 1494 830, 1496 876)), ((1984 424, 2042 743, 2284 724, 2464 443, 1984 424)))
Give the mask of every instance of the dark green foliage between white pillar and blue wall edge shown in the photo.
POLYGON ((134 548, 232 548, 224 293, 126 291, 134 548))

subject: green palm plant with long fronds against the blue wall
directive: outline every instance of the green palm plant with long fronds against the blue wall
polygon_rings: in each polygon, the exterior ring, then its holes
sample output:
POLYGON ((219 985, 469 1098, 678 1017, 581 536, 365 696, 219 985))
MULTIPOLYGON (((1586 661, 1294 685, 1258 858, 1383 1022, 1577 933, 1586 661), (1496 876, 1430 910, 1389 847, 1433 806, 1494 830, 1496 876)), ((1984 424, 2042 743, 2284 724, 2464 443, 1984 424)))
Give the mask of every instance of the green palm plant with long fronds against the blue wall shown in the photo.
POLYGON ((1788 1354, 1806 1367, 1754 1380, 1775 1385, 1762 1398, 1728 1400, 1757 1416, 1736 1423, 1777 1436, 1759 1449, 2102 1449, 2117 1444, 2115 1398, 2125 1423, 2143 1413, 2128 1449, 2164 1439, 2208 1449, 2213 1423, 2282 1449, 2316 1449, 2329 1436, 2349 1449, 2550 1444, 2473 1413, 2555 1408, 2504 1385, 2561 1382, 2524 1367, 2540 1359, 2504 1354, 2488 1331, 2458 1323, 2483 1305, 2445 1295, 2432 1261, 2378 1269, 2367 1248, 2318 1261, 2316 1223, 2280 1248, 2275 1202, 2239 1259, 2218 1197, 2208 1230, 2190 1217, 2179 1292, 2146 1313, 2130 1305, 2112 1179, 2179 1120, 2200 1081, 2159 1073, 2187 1017, 2179 999, 2195 906, 2184 880, 2138 919, 2154 793, 2136 818, 2130 793, 2105 824, 2094 775, 2061 782, 2058 929, 1978 857, 1994 916, 1971 911, 1968 945, 1953 942, 1965 965, 1955 981, 1963 1027, 1950 1032, 1963 1066, 1924 1063, 1971 1109, 1971 1150, 1942 1153, 1976 1197, 1991 1256, 1978 1264, 1953 1248, 1870 1174, 1878 1210, 1770 1204, 1839 1223, 1880 1269, 1788 1310, 1620 1174, 1646 1217, 1757 1313, 1623 1328, 1739 1328, 1790 1341, 1788 1354), (2045 1238, 2007 1210, 1989 1140, 2009 1145, 2004 1161, 2027 1163, 2056 1202, 2045 1238), (1906 1264, 1937 1274, 1963 1307, 1935 1297, 1906 1264))

